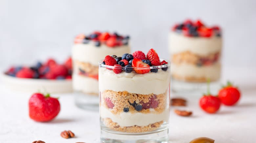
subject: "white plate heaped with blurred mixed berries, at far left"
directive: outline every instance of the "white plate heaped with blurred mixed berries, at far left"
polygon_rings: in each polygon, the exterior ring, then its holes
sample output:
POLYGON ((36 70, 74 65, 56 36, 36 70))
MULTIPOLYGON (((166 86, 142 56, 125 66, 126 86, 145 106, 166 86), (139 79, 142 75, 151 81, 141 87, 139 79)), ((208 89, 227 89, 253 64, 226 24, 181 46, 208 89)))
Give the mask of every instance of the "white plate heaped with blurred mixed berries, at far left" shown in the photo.
POLYGON ((72 59, 57 63, 53 58, 32 66, 11 66, 1 74, 4 85, 17 92, 72 92, 72 59))

